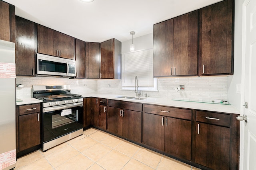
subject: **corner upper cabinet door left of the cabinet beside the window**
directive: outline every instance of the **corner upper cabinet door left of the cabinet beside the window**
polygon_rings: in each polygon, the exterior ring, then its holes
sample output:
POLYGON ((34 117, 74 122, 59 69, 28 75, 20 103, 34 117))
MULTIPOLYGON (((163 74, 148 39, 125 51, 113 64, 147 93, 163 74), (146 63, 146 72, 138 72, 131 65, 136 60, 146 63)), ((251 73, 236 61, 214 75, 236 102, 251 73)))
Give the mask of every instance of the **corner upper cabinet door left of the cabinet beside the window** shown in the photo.
POLYGON ((100 78, 100 43, 85 43, 86 78, 100 78))

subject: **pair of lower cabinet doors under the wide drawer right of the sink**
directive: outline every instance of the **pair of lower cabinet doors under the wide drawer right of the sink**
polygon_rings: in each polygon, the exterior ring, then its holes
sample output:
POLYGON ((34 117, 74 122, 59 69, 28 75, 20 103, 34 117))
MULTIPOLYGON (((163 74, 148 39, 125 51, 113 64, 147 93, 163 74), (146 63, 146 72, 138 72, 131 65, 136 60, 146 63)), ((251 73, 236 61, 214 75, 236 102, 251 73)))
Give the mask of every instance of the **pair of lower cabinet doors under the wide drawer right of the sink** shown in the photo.
POLYGON ((144 114, 143 143, 178 158, 191 160, 191 121, 144 114))

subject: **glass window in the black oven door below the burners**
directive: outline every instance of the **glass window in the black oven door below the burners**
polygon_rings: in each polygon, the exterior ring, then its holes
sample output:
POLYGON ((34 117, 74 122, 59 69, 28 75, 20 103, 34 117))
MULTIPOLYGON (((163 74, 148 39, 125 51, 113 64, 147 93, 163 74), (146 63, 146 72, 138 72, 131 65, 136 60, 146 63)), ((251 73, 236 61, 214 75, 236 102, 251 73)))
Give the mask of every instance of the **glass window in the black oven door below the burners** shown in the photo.
MULTIPOLYGON (((70 109, 71 110, 71 109, 70 109)), ((77 121, 78 110, 72 110, 71 114, 62 116, 61 113, 52 115, 52 129, 77 121)))

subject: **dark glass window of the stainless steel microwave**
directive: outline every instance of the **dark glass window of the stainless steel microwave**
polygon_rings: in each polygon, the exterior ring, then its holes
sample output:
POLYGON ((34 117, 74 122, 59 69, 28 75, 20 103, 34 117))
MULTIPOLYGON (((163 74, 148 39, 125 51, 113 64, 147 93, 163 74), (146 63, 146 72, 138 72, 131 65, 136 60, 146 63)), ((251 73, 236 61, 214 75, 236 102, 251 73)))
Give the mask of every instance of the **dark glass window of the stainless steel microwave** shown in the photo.
POLYGON ((64 72, 68 70, 66 63, 58 63, 54 61, 39 60, 38 61, 38 70, 39 71, 50 71, 50 72, 64 72))

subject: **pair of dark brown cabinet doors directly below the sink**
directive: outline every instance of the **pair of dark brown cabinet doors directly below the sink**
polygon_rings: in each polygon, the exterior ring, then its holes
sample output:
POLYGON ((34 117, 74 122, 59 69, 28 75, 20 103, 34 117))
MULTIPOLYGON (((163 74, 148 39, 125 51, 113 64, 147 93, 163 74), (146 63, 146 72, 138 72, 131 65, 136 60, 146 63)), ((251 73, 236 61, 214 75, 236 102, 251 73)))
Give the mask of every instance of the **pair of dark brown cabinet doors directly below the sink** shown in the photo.
POLYGON ((108 107, 108 131, 141 143, 142 112, 108 107))

